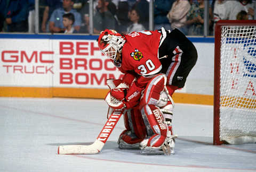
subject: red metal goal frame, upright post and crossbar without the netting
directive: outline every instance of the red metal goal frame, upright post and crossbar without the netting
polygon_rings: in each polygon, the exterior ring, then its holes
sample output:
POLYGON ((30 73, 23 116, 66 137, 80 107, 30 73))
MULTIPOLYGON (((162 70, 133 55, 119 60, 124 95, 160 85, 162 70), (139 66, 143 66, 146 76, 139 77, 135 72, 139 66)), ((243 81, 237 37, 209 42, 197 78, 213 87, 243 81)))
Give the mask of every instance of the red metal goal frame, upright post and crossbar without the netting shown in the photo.
POLYGON ((220 145, 220 48, 221 29, 226 25, 256 25, 256 20, 220 20, 215 25, 214 40, 214 102, 213 102, 213 144, 220 145))

